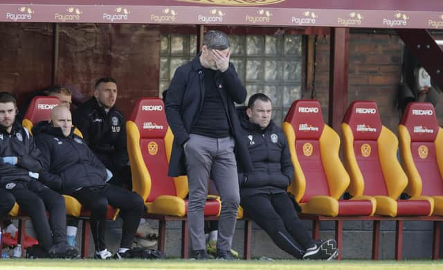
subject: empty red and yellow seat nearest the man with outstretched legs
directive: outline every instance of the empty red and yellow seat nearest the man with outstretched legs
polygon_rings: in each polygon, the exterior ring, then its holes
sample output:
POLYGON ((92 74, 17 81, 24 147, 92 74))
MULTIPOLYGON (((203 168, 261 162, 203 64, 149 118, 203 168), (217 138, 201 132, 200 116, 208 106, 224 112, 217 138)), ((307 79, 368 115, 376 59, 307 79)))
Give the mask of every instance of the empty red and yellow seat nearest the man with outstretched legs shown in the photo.
POLYGON ((296 100, 282 125, 294 166, 289 186, 302 213, 327 216, 373 215, 376 201, 356 196, 339 199, 350 183, 338 150, 340 138, 325 125, 317 100, 296 100))

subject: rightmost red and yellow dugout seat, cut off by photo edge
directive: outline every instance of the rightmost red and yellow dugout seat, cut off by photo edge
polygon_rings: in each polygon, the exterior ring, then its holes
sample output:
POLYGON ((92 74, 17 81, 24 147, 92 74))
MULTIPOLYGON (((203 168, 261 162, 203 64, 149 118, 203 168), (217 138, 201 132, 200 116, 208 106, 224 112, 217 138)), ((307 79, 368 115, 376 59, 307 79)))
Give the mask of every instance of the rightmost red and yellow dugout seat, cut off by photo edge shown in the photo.
POLYGON ((399 124, 400 160, 406 194, 434 200, 433 215, 443 215, 443 131, 432 103, 410 102, 399 124))

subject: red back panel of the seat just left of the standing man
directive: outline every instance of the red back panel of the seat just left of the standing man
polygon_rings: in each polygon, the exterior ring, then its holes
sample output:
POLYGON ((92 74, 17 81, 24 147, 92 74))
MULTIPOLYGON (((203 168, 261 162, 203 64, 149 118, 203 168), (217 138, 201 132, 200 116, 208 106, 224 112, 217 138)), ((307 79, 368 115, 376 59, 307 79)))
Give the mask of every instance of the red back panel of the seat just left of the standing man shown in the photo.
POLYGON ((129 120, 136 124, 140 132, 141 154, 152 182, 147 201, 154 201, 160 195, 176 196, 174 179, 168 177, 168 157, 165 148, 168 122, 163 100, 139 99, 129 120))

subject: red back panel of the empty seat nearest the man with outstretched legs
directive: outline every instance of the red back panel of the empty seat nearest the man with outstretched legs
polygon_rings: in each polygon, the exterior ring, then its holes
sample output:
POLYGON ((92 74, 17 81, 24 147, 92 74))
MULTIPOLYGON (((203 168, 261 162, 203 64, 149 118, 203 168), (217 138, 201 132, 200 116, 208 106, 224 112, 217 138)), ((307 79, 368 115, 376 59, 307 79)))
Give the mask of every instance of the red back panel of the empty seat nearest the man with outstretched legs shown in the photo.
POLYGON ((329 195, 329 186, 320 154, 320 136, 325 122, 317 100, 296 100, 284 122, 296 136, 296 155, 306 179, 306 190, 300 202, 316 195, 329 195))

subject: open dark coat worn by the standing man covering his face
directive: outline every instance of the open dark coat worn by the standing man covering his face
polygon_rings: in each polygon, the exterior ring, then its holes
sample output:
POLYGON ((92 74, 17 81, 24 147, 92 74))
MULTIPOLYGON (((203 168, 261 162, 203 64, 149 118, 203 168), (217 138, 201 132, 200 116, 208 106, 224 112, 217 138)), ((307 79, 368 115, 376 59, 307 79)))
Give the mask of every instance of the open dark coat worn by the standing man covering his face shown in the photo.
MULTIPOLYGON (((170 177, 186 174, 183 144, 188 141, 189 132, 196 123, 204 103, 204 68, 200 64, 199 57, 200 54, 188 64, 177 68, 165 97, 166 117, 174 134, 168 170, 170 177)), ((234 105, 234 102, 244 102, 247 94, 246 89, 240 82, 237 71, 231 63, 229 63, 228 70, 224 73, 217 71, 214 80, 223 100, 230 129, 235 138, 235 152, 240 157, 237 167, 250 171, 252 170, 252 164, 247 148, 239 144, 241 127, 234 105)))

